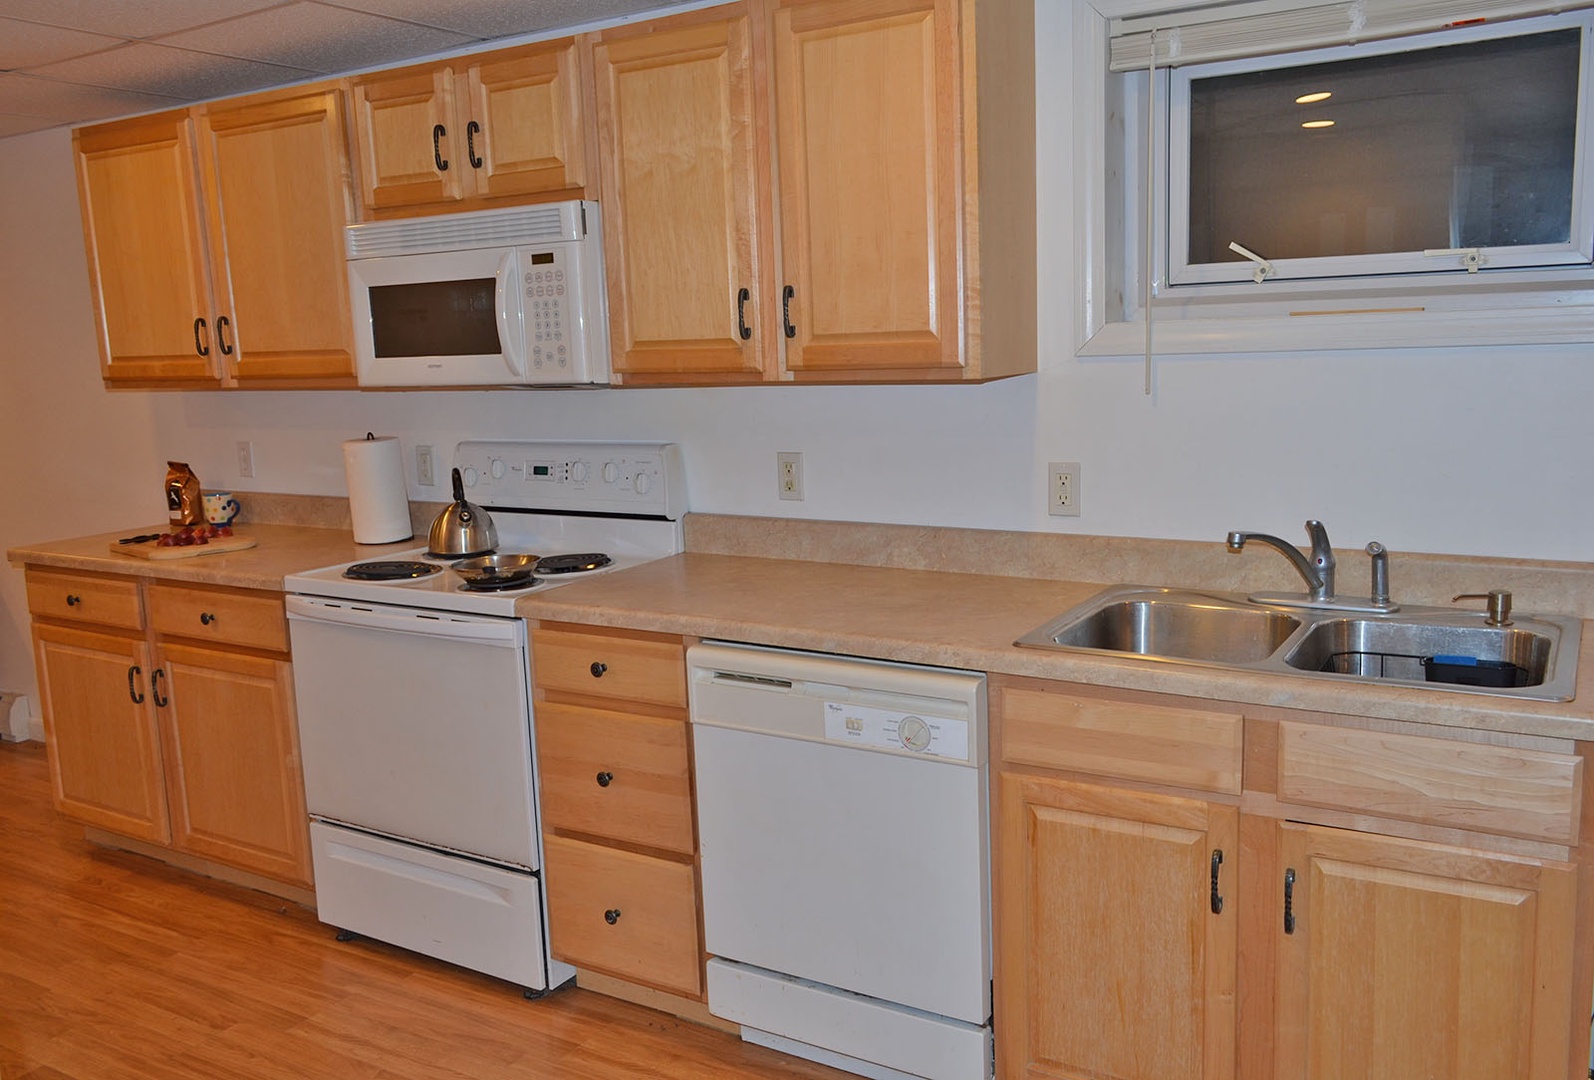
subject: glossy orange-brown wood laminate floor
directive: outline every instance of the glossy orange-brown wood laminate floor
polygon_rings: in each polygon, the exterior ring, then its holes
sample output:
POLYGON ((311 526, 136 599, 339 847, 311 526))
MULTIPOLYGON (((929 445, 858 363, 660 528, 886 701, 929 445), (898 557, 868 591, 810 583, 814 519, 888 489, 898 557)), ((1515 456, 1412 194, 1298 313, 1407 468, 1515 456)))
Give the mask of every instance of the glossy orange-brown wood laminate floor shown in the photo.
POLYGON ((845 1080, 583 989, 352 941, 260 892, 105 851, 0 744, 3 1080, 845 1080))

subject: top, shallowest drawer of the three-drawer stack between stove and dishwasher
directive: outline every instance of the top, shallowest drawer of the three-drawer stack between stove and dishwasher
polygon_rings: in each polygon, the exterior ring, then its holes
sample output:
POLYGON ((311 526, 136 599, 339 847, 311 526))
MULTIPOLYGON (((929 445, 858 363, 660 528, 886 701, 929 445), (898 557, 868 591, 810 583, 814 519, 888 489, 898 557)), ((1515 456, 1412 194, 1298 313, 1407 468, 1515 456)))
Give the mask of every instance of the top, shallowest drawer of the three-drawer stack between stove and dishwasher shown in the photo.
POLYGON ((539 690, 684 709, 685 648, 679 637, 537 628, 531 669, 539 690))

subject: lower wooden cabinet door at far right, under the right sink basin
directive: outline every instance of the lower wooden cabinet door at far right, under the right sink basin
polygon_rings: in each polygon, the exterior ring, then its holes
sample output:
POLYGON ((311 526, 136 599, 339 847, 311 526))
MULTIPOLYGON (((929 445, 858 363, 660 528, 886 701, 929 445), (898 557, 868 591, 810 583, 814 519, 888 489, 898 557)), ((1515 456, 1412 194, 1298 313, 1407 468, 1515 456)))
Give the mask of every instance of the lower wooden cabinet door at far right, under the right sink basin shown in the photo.
POLYGON ((1572 1008, 1572 867, 1280 830, 1275 1075, 1567 1075, 1572 1024, 1586 1021, 1572 1008))

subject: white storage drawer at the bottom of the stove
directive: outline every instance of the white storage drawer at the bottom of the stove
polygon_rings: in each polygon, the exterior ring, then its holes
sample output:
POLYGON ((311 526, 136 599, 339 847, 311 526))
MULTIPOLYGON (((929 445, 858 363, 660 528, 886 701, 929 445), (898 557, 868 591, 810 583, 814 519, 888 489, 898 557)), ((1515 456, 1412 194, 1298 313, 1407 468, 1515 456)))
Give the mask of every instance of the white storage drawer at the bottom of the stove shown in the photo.
POLYGON ((537 878, 312 820, 316 916, 529 989, 548 984, 537 878))

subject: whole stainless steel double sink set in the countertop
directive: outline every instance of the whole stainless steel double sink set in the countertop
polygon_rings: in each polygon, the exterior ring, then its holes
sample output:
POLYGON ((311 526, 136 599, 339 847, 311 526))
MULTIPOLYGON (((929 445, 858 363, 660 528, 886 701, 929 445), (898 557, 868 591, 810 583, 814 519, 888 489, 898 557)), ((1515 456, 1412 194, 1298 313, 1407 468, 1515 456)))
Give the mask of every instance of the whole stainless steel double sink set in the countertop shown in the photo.
POLYGON ((1259 604, 1224 593, 1116 586, 1015 644, 1232 671, 1570 701, 1581 620, 1401 607, 1344 612, 1259 604))

